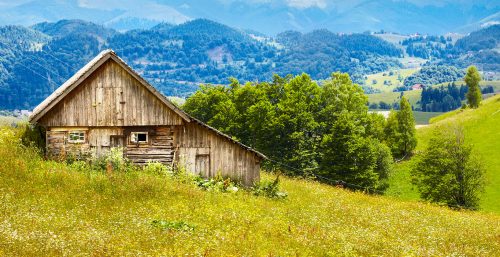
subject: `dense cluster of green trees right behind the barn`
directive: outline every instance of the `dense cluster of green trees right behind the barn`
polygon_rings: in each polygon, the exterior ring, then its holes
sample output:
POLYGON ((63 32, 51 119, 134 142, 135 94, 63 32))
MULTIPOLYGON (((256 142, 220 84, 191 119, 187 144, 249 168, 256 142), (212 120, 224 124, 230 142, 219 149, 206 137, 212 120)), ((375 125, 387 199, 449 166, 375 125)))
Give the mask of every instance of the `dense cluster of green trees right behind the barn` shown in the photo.
MULTIPOLYGON (((183 109, 287 167, 288 175, 342 180, 383 190, 393 156, 416 146, 408 101, 386 121, 346 73, 321 85, 307 74, 271 82, 203 85, 183 109)), ((283 168, 283 167, 281 167, 283 168)))

